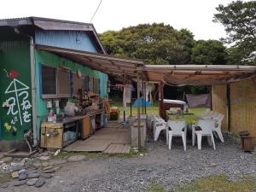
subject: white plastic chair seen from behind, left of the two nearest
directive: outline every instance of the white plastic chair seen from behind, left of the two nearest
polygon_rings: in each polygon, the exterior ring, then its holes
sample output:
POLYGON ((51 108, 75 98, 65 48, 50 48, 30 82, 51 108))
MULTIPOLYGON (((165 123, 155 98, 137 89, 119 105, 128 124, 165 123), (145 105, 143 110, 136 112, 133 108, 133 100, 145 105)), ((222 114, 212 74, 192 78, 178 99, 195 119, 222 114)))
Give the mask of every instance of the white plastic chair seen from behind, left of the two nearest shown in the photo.
POLYGON ((186 122, 184 120, 180 120, 180 121, 168 120, 167 129, 168 129, 169 149, 171 150, 171 147, 172 147, 172 137, 182 137, 182 139, 183 139, 183 148, 184 148, 184 151, 185 151, 187 149, 187 139, 186 139, 187 126, 186 126, 186 122))

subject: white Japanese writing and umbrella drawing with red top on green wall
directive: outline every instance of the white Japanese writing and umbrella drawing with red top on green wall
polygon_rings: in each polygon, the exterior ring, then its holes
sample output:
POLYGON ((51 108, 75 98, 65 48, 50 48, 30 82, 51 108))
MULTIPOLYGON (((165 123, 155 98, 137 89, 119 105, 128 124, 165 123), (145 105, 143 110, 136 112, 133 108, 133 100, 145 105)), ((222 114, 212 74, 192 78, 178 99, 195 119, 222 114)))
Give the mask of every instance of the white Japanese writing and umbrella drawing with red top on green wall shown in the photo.
POLYGON ((7 73, 7 76, 11 79, 11 82, 4 91, 7 98, 4 103, 5 107, 8 108, 7 115, 11 117, 11 120, 4 123, 3 126, 5 131, 17 131, 17 124, 22 126, 31 122, 32 114, 29 109, 32 108, 32 105, 28 99, 30 88, 18 79, 19 72, 11 70, 9 74, 7 73))

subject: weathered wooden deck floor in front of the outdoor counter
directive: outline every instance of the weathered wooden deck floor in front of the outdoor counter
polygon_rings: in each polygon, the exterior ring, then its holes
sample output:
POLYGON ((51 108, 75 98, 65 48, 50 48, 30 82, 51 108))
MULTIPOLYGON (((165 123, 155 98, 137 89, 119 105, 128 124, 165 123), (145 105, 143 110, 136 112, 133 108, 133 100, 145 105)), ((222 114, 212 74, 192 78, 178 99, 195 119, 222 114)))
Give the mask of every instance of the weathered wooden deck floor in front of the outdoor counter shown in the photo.
POLYGON ((123 128, 119 123, 109 123, 106 128, 96 131, 94 135, 70 144, 64 151, 88 151, 111 154, 129 153, 131 150, 130 128, 123 128))

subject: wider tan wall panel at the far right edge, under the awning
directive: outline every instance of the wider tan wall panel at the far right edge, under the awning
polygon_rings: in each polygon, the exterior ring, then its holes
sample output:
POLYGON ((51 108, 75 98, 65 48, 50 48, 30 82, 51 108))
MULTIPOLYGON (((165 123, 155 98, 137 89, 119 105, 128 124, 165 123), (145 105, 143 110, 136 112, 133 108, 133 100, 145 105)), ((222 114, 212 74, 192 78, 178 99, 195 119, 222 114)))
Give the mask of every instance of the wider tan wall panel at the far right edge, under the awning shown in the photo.
POLYGON ((256 79, 230 84, 230 131, 244 130, 256 137, 256 79))

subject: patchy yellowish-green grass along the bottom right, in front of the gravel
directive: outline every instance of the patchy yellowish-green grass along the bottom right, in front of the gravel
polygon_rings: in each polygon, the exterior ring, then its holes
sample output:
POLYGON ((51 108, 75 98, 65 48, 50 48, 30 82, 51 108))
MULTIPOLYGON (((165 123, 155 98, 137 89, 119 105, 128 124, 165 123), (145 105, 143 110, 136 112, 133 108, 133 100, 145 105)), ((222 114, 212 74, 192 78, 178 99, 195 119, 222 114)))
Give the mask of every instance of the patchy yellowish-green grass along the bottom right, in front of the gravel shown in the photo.
MULTIPOLYGON (((177 192, 255 192, 256 178, 242 176, 240 181, 230 182, 225 175, 204 177, 176 190, 177 192)), ((145 192, 168 192, 160 184, 151 182, 145 192)))

